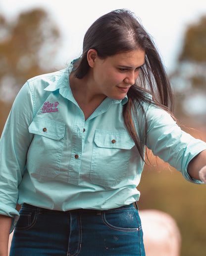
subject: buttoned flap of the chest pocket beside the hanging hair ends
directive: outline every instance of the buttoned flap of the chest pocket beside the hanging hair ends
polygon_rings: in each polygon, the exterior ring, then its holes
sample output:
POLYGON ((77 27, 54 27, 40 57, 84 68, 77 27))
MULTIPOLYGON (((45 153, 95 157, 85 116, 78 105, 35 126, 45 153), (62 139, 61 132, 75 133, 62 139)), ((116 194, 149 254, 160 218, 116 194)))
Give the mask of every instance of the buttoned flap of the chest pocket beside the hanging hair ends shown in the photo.
POLYGON ((95 143, 101 148, 131 149, 135 146, 135 142, 126 131, 113 132, 96 130, 95 143))

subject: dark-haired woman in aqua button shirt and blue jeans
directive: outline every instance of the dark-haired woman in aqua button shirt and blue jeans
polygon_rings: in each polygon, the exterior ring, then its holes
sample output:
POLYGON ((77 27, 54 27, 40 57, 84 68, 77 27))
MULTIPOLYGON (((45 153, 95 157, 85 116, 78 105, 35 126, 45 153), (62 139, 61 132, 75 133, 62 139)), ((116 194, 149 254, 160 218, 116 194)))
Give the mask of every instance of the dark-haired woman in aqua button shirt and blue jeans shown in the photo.
POLYGON ((30 79, 15 99, 0 144, 0 255, 16 225, 11 256, 144 256, 133 203, 145 145, 191 182, 202 183, 206 165, 206 143, 180 130, 172 107, 159 55, 132 13, 95 21, 81 58, 30 79))

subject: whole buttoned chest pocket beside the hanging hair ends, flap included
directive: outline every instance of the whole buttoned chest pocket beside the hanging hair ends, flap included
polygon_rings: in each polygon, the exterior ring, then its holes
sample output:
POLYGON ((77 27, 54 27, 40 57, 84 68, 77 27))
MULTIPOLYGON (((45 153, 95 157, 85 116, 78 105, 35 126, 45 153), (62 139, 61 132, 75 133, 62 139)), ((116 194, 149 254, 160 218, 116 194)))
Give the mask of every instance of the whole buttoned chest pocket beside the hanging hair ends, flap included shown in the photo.
POLYGON ((125 131, 96 130, 90 179, 103 186, 115 186, 126 176, 134 141, 125 131))

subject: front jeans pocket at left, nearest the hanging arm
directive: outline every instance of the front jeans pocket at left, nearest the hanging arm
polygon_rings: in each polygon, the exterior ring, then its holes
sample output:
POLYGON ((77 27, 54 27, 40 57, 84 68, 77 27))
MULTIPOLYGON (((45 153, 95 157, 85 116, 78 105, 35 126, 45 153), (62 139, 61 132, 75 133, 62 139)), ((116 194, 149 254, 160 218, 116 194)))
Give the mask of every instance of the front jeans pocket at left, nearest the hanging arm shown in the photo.
POLYGON ((33 227, 37 221, 38 213, 35 210, 20 210, 20 217, 16 223, 16 230, 28 230, 33 227))

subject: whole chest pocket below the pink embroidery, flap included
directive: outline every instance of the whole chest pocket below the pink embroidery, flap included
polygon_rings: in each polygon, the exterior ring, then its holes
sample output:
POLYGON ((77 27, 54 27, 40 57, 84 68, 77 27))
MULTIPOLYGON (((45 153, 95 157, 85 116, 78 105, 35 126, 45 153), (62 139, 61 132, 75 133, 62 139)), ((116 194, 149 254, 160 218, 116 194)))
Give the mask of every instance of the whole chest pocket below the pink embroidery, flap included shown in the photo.
POLYGON ((47 177, 59 174, 65 124, 36 117, 29 126, 34 138, 27 154, 27 169, 47 177))

